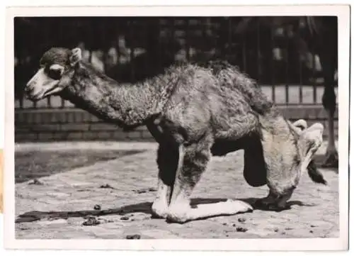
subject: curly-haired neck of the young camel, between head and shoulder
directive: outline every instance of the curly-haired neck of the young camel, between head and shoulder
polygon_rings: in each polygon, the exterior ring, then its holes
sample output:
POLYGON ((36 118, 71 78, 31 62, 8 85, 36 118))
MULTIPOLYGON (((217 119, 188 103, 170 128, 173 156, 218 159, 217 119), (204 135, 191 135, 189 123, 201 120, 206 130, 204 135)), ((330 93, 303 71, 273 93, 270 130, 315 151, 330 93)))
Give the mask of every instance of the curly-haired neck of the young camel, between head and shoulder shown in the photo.
POLYGON ((120 84, 81 63, 63 97, 103 121, 129 128, 144 125, 148 118, 161 113, 171 86, 171 79, 164 77, 120 84))

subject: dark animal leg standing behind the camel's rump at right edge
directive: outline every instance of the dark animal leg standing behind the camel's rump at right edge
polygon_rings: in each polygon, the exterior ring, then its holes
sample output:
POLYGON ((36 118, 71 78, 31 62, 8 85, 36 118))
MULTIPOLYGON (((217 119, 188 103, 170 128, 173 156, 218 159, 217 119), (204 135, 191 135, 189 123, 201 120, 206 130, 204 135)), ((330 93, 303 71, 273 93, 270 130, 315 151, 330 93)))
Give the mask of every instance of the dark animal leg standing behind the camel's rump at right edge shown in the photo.
POLYGON ((334 91, 334 73, 336 72, 336 55, 324 52, 320 55, 321 65, 324 72, 324 95, 322 104, 328 116, 329 145, 326 149, 326 156, 323 167, 338 168, 338 151, 334 135, 334 113, 336 112, 336 93, 334 91))

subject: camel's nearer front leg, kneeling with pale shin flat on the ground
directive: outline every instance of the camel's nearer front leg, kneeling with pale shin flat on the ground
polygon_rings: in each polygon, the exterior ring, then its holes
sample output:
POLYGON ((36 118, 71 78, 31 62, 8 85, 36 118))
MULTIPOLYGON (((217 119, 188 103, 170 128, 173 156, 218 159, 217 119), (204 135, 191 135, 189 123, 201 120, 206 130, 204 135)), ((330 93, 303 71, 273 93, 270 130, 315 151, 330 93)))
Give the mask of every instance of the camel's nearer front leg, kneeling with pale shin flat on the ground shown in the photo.
POLYGON ((190 195, 199 182, 210 160, 210 144, 206 141, 179 148, 179 161, 176 181, 173 187, 167 221, 185 223, 213 216, 234 215, 252 211, 243 201, 227 200, 215 204, 190 206, 190 195))

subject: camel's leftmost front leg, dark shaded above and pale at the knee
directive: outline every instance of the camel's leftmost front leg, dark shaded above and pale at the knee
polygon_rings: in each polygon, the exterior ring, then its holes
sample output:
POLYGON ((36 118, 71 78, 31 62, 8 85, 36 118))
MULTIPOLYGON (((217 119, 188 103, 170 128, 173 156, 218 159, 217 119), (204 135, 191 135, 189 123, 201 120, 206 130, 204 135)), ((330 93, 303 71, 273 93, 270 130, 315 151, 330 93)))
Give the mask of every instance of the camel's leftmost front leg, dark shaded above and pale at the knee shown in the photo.
POLYGON ((156 162, 159 167, 159 177, 156 198, 152 204, 152 216, 154 218, 166 218, 169 213, 171 192, 176 178, 178 146, 160 144, 156 162))

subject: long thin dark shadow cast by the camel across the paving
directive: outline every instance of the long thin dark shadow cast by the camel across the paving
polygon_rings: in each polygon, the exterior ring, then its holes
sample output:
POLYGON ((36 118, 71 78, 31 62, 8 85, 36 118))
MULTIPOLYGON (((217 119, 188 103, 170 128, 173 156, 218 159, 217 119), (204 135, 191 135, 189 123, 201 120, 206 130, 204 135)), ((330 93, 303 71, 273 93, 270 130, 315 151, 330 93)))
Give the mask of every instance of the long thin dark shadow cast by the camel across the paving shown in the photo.
MULTIPOLYGON (((256 204, 257 198, 246 198, 246 199, 238 199, 244 201, 251 206, 253 206, 253 210, 261 210, 261 211, 274 211, 268 210, 266 208, 262 208, 256 204)), ((204 198, 194 198, 191 199, 190 205, 196 207, 198 204, 215 204, 218 202, 227 201, 227 199, 204 199, 204 198)), ((289 201, 287 203, 288 208, 291 206, 314 206, 313 204, 304 204, 302 201, 289 201)), ((108 216, 108 215, 125 215, 127 213, 146 213, 152 215, 152 202, 142 202, 139 204, 130 204, 127 206, 122 206, 119 208, 109 208, 106 210, 82 210, 82 211, 29 211, 27 213, 23 213, 16 218, 15 223, 23 223, 23 222, 33 222, 40 221, 42 219, 67 219, 67 218, 85 218, 87 216, 108 216)), ((152 218, 154 216, 152 215, 152 218)))

